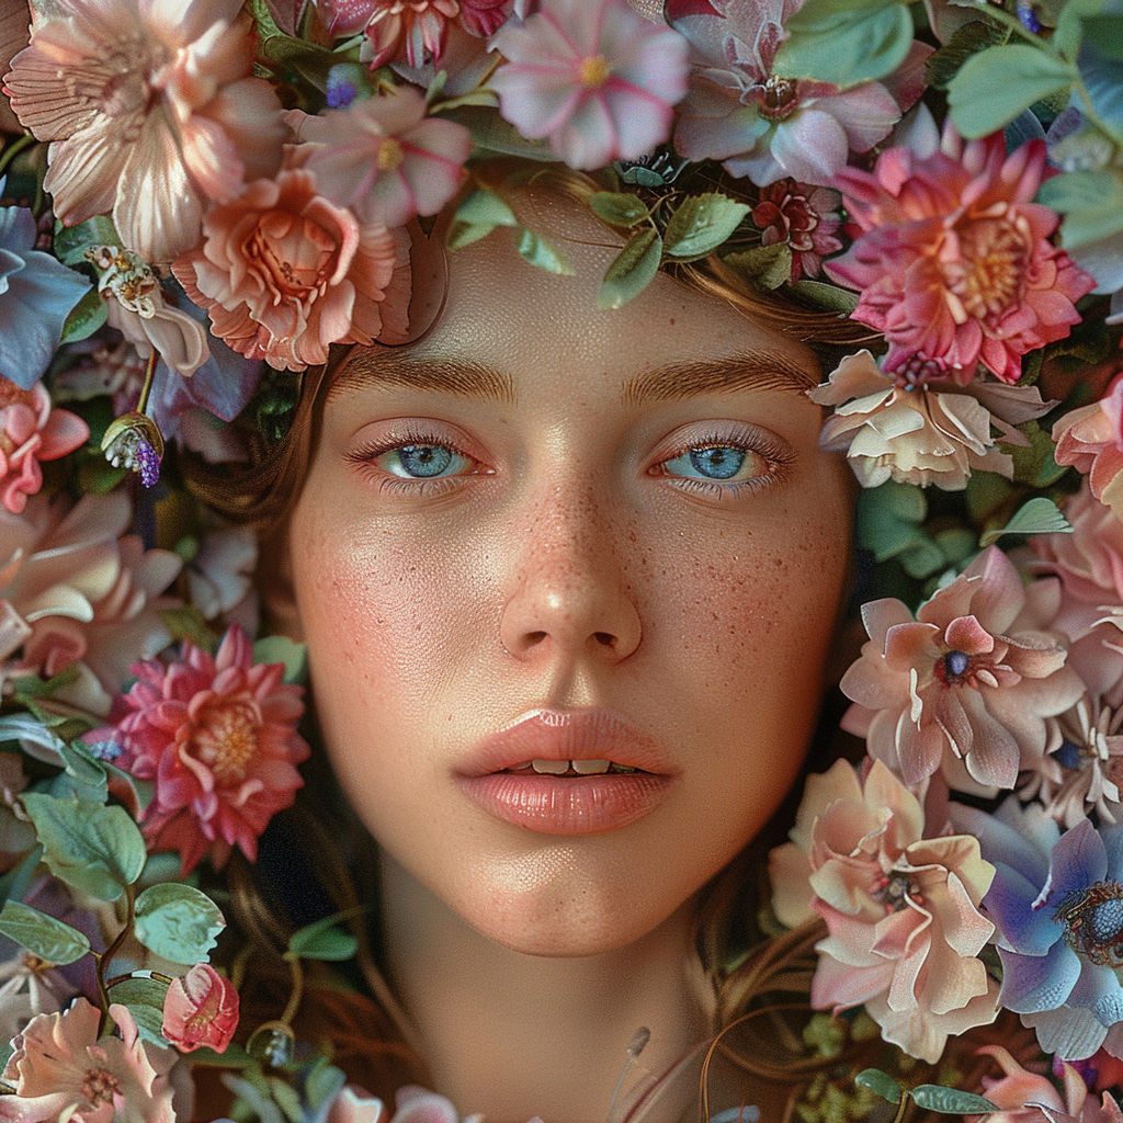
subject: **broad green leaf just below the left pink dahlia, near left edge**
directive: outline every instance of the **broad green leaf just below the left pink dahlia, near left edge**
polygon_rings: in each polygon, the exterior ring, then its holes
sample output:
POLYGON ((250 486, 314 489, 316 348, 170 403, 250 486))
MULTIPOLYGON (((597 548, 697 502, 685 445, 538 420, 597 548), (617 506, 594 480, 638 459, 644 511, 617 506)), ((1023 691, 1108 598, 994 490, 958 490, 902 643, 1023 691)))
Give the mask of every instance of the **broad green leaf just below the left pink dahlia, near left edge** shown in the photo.
POLYGON ((72 888, 116 901, 140 876, 144 837, 124 807, 36 792, 20 800, 43 844, 47 868, 72 888))

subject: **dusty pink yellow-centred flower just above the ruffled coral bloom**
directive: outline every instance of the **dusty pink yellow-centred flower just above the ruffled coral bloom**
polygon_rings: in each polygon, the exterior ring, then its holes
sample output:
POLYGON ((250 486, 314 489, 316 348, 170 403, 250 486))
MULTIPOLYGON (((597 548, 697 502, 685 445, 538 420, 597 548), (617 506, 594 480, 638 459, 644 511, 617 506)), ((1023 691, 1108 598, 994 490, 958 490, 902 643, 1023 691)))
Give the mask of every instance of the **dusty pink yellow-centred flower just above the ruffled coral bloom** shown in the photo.
POLYGON ((319 117, 301 113, 293 124, 296 166, 316 173, 321 194, 377 226, 436 214, 456 194, 472 148, 463 125, 426 117, 424 98, 411 86, 319 117))

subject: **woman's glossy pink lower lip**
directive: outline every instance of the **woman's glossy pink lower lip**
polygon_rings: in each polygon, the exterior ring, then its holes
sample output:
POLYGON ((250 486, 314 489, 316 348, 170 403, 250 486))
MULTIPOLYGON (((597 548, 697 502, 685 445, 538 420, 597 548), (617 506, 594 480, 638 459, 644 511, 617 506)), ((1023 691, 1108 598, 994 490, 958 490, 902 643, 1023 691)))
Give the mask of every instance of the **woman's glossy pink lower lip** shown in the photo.
POLYGON ((539 834, 601 834, 650 814, 675 785, 651 773, 460 777, 468 797, 496 819, 539 834))

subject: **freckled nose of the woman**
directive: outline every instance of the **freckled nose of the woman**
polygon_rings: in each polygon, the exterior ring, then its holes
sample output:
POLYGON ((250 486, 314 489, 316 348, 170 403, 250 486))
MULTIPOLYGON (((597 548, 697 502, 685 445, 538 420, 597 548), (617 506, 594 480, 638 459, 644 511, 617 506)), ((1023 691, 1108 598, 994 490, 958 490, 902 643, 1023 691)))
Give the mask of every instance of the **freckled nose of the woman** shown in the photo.
POLYGON ((555 490, 523 523, 500 622, 511 655, 617 664, 639 647, 642 627, 614 521, 595 496, 555 490))

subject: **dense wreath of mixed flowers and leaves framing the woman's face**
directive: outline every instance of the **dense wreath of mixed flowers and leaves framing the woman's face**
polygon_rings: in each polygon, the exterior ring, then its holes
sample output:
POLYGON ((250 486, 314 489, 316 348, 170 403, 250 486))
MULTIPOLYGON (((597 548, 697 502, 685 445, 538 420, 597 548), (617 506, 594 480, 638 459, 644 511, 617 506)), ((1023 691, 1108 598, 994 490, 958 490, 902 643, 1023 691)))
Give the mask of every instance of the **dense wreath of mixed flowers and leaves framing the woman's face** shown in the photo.
MULTIPOLYGON (((983 1049, 1004 1075, 975 1087, 820 1081, 801 1116, 1123 1119, 1123 10, 647 7, 0 16, 6 1117, 171 1123, 199 1057, 238 1117, 376 1114, 293 1050, 293 1003, 231 1044, 214 897, 301 784, 302 657, 247 638, 254 538, 175 460, 283 430, 281 372, 331 345, 423 332, 410 259, 447 208, 449 252, 505 227, 569 272, 506 198, 515 156, 587 174, 622 241, 602 307, 716 258, 878 340, 811 392, 878 563, 841 683, 868 757, 810 778, 768 922, 825 925, 811 1002, 851 1037, 935 1065, 1005 1010, 1037 1046, 983 1049)), ((295 933, 295 1003, 302 962, 355 948, 337 917, 295 933)))

